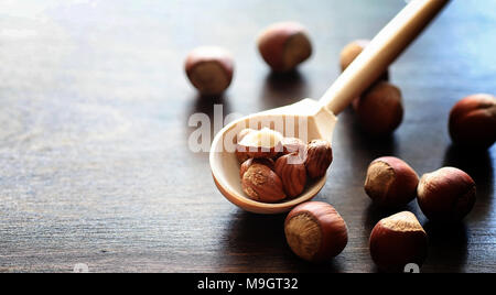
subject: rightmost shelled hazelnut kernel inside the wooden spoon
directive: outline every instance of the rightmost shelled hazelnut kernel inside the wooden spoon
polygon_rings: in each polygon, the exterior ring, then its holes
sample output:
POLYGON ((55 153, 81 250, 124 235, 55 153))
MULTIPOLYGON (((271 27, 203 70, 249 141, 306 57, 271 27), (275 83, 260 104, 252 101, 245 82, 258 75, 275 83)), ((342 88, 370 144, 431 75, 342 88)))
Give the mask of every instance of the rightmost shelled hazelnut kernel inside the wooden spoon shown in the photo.
POLYGON ((325 175, 333 162, 333 149, 325 140, 313 140, 306 146, 305 167, 311 178, 325 175))

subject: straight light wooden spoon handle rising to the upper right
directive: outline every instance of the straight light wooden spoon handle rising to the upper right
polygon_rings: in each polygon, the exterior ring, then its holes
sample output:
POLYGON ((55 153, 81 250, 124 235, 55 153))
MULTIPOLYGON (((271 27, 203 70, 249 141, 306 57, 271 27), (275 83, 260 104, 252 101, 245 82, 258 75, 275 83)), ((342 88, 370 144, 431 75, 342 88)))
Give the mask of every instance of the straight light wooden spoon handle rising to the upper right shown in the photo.
POLYGON ((366 90, 450 0, 410 1, 327 89, 320 102, 334 114, 366 90))

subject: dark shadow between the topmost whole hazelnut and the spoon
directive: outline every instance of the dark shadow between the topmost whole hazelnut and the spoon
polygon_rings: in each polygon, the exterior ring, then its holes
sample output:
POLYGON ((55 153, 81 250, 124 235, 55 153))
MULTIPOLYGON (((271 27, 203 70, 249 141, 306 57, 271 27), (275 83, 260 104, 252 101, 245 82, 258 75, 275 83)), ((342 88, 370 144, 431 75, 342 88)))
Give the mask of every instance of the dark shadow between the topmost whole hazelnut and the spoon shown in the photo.
POLYGON ((305 77, 296 69, 290 73, 269 73, 260 95, 260 109, 273 109, 306 98, 309 87, 305 77))

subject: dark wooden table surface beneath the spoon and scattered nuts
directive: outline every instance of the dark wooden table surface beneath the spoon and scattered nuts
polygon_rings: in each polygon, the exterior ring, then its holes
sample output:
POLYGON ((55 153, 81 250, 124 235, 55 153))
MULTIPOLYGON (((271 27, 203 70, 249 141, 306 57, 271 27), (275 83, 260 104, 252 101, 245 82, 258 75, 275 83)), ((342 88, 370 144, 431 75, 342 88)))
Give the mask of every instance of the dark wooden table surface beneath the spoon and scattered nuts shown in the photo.
MULTIPOLYGON (((349 228, 333 261, 308 264, 288 248, 284 215, 238 209, 217 192, 208 154, 190 151, 193 113, 224 116, 319 98, 339 74, 338 54, 373 37, 400 0, 8 1, 0 12, 0 271, 375 272, 368 237, 390 212, 363 190, 381 155, 419 174, 457 166, 476 181, 475 209, 461 226, 431 225, 423 272, 496 272, 495 148, 451 145, 451 107, 496 91, 496 2, 453 1, 391 66, 406 116, 385 140, 339 116, 335 161, 315 199, 349 228), (271 75, 256 50, 266 25, 302 22, 315 53, 299 72, 271 75), (224 97, 198 97, 183 74, 197 45, 233 52, 224 97)), ((213 136, 213 134, 212 134, 213 136)), ((209 140, 205 138, 205 140, 209 140)))

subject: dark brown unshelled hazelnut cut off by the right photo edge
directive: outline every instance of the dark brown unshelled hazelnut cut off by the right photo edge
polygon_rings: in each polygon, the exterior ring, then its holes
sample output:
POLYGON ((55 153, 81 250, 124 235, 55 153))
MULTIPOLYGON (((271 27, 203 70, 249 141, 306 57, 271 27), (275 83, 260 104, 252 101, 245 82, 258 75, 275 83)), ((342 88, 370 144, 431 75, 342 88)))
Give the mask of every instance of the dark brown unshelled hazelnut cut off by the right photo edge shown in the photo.
POLYGON ((450 112, 449 129, 454 143, 488 149, 496 141, 496 97, 481 94, 460 100, 450 112))

